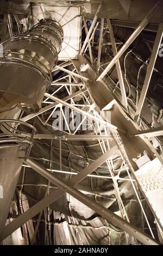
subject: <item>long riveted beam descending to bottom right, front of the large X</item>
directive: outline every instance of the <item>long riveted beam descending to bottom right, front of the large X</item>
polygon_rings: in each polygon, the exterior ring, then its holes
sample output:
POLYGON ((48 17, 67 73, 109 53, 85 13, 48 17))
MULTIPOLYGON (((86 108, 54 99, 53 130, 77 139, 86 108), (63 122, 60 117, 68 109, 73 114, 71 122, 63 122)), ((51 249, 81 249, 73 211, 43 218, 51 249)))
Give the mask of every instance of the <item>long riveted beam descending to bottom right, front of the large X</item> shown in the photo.
MULTIPOLYGON (((116 147, 116 146, 115 146, 116 147)), ((67 184, 66 182, 62 181, 61 179, 53 176, 51 173, 47 172, 45 168, 43 168, 40 164, 37 164, 35 161, 28 159, 26 163, 29 164, 37 173, 42 175, 44 178, 51 181, 54 185, 57 185, 62 191, 67 192, 72 197, 76 198, 87 207, 92 209, 93 211, 97 212, 97 214, 104 217, 113 225, 117 226, 118 228, 126 231, 131 236, 134 236, 137 240, 141 241, 144 245, 158 245, 159 243, 154 240, 151 236, 148 236, 146 233, 140 231, 139 228, 134 227, 129 222, 123 220, 123 218, 119 217, 118 215, 114 214, 109 209, 106 209, 101 204, 97 203, 95 200, 92 200, 82 192, 78 191, 77 188, 74 188, 72 185, 67 184)), ((77 176, 74 176, 76 178, 77 176)), ((69 183, 69 182, 68 182, 69 183)))

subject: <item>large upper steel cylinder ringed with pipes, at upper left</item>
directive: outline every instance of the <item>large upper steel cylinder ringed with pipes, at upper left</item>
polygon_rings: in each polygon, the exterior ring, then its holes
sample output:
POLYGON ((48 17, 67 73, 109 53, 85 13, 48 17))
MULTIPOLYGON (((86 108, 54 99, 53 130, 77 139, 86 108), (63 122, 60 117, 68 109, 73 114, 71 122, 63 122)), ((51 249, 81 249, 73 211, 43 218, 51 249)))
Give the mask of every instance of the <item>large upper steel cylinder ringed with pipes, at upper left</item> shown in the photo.
POLYGON ((51 85, 63 31, 53 20, 41 20, 28 32, 3 42, 0 66, 1 112, 18 106, 37 112, 51 85))

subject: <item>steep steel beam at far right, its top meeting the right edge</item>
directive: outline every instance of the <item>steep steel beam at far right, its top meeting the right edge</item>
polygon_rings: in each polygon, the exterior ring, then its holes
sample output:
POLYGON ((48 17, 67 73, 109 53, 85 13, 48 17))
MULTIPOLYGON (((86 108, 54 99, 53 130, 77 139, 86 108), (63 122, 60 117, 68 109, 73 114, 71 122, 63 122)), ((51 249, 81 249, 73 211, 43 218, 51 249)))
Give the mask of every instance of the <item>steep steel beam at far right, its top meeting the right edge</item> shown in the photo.
POLYGON ((142 87, 139 103, 137 105, 137 109, 136 109, 136 113, 135 113, 134 120, 135 120, 136 123, 139 120, 141 109, 143 107, 143 103, 145 102, 145 98, 146 98, 147 90, 148 90, 148 87, 149 87, 149 83, 151 81, 155 61, 156 61, 156 58, 158 56, 158 51, 159 51, 160 43, 161 43, 161 40, 162 40, 162 34, 163 34, 163 24, 160 24, 159 28, 158 28, 158 32, 156 34, 155 41, 154 41, 151 58, 149 60, 147 73, 146 73, 146 77, 145 77, 145 82, 144 82, 143 87, 142 87))

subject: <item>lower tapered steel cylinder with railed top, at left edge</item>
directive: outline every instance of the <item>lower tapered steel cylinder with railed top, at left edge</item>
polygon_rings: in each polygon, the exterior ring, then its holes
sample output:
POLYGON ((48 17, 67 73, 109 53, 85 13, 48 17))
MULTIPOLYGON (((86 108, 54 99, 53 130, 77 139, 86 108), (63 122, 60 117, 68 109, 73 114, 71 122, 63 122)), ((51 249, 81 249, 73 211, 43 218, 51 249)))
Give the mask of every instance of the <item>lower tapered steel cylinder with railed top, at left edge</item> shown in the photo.
POLYGON ((0 241, 8 218, 15 188, 21 173, 22 163, 26 160, 36 129, 19 120, 0 120, 0 241), (18 127, 17 127, 18 125, 18 127), (30 133, 20 129, 25 128, 30 133))

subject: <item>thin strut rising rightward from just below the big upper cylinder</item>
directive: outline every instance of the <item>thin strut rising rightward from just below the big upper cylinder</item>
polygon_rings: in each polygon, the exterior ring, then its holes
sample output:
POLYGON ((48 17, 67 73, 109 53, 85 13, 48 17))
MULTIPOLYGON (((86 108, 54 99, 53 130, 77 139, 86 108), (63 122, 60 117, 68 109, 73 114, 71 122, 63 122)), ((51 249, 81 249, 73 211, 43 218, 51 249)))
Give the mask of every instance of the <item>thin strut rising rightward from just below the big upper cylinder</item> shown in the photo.
MULTIPOLYGON (((71 94, 71 95, 66 96, 64 99, 62 99, 62 101, 70 100, 70 99, 72 99, 73 97, 76 97, 76 96, 78 96, 79 94, 84 93, 84 92, 86 92, 86 89, 79 90, 79 91, 76 92, 76 93, 73 93, 73 94, 71 94)), ((49 94, 49 95, 50 95, 50 94, 49 94)), ((37 113, 29 114, 29 115, 27 115, 26 117, 21 118, 21 121, 24 121, 24 122, 25 122, 25 121, 28 121, 28 120, 30 120, 30 119, 36 117, 37 115, 42 114, 43 112, 46 112, 46 111, 48 111, 49 109, 54 108, 54 107, 57 106, 57 105, 58 105, 57 102, 52 103, 52 104, 50 104, 50 105, 48 105, 48 106, 46 106, 46 107, 41 108, 41 109, 39 110, 39 112, 37 112, 37 113)))

